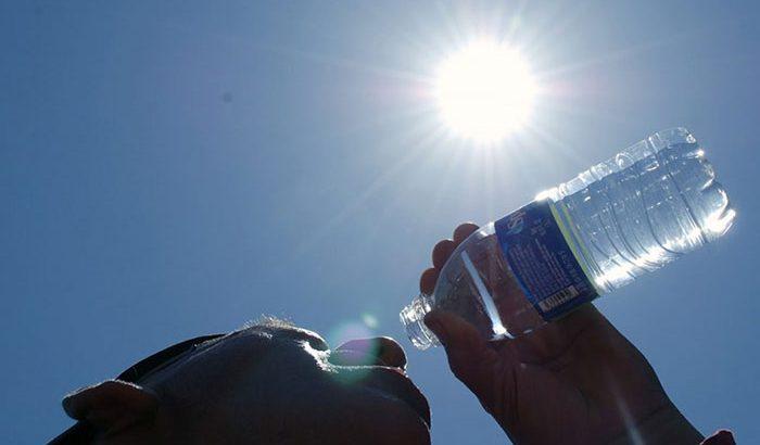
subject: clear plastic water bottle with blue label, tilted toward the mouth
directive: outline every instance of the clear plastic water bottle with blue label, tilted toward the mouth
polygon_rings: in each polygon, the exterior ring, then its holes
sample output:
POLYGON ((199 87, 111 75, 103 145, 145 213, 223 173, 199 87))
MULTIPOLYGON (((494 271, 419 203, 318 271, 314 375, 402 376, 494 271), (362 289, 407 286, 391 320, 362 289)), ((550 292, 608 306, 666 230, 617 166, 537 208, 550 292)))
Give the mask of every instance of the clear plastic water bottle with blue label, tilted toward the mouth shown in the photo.
POLYGON ((439 344, 422 321, 434 307, 512 339, 718 239, 735 215, 688 130, 659 131, 472 233, 401 320, 420 349, 439 344))

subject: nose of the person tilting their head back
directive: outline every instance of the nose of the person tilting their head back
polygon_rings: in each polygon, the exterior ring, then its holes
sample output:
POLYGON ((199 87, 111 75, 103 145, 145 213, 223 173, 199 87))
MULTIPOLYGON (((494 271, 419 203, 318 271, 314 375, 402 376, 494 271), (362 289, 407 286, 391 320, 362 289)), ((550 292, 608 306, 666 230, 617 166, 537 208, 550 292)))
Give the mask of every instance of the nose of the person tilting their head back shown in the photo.
POLYGON ((330 354, 330 363, 344 366, 392 366, 406 369, 406 354, 395 340, 389 336, 351 340, 330 354))

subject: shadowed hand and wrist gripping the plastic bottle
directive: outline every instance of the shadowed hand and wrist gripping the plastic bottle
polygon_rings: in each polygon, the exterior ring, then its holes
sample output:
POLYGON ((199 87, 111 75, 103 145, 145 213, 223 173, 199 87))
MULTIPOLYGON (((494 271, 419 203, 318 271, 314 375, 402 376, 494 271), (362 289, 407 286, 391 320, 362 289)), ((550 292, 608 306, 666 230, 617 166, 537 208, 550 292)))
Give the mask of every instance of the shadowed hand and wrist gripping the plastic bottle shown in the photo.
MULTIPOLYGON (((433 249, 420 278, 431 294, 441 268, 478 226, 433 249)), ((455 314, 425 318, 456 376, 515 443, 698 444, 646 358, 592 305, 516 340, 489 342, 455 314)))

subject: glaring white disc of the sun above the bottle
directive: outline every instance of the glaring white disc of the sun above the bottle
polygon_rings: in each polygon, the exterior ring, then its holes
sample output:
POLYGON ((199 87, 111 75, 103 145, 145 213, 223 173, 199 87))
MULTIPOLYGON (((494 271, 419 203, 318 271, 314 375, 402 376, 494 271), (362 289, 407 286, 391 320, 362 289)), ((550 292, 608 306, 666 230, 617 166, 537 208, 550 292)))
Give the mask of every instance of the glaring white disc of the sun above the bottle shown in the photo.
POLYGON ((521 54, 491 41, 471 43, 446 58, 434 86, 447 126, 478 142, 496 142, 523 127, 537 92, 521 54))

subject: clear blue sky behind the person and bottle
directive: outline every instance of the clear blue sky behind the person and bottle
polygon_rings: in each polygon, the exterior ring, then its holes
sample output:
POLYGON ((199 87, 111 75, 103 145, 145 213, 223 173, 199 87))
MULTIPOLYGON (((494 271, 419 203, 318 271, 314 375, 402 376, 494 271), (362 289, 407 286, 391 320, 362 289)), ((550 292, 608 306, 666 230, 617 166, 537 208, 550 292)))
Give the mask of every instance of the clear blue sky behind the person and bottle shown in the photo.
POLYGON ((597 304, 700 431, 760 443, 756 3, 155 3, 0 2, 2 442, 68 425, 69 390, 271 314, 398 339, 434 443, 504 443, 397 321, 432 245, 683 125, 736 225, 597 304), (545 86, 493 150, 428 91, 481 35, 545 86))

